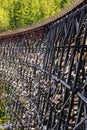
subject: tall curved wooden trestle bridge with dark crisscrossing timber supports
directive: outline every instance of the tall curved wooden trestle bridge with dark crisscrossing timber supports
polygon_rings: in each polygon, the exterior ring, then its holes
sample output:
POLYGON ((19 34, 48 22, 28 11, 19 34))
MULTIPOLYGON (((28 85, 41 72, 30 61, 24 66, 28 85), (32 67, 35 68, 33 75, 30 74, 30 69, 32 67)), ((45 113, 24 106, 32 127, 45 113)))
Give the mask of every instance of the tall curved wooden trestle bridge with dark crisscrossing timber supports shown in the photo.
POLYGON ((8 101, 0 129, 87 130, 87 1, 1 33, 0 82, 8 101))

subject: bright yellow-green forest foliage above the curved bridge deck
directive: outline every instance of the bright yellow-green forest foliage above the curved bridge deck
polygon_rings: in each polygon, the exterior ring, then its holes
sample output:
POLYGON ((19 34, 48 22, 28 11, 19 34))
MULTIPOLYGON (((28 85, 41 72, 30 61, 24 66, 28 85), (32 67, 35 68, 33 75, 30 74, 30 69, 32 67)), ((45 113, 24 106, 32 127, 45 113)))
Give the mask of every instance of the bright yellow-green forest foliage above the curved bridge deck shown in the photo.
POLYGON ((0 0, 0 32, 40 22, 72 0, 0 0))

